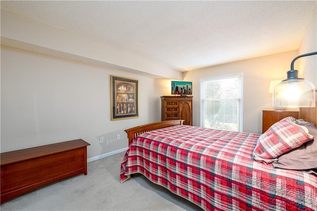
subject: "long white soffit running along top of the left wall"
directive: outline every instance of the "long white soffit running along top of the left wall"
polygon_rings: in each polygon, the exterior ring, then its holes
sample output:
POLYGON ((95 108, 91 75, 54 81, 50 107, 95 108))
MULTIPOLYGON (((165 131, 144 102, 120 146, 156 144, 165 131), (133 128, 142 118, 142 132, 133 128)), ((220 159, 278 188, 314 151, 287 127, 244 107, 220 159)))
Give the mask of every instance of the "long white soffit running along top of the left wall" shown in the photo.
POLYGON ((111 64, 140 74, 181 80, 181 72, 141 55, 125 53, 4 10, 0 15, 1 44, 5 46, 75 61, 85 60, 94 65, 111 64))

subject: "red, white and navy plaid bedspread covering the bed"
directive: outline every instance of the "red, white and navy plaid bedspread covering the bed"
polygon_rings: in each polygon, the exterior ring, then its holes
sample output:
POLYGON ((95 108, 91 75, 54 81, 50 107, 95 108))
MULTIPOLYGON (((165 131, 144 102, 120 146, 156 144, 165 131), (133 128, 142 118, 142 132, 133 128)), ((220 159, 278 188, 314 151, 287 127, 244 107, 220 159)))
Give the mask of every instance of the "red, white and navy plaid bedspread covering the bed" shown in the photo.
POLYGON ((141 173, 204 210, 317 210, 317 176, 254 161, 259 134, 179 125, 141 134, 120 179, 141 173))

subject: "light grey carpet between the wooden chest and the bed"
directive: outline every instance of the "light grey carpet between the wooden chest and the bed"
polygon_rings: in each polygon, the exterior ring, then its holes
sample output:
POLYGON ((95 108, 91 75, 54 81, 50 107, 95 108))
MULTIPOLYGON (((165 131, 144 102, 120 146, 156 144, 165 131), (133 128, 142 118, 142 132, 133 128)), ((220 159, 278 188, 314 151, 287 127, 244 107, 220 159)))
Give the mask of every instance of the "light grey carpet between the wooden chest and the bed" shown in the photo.
POLYGON ((124 153, 88 163, 74 176, 16 197, 1 211, 181 211, 202 210, 137 174, 120 183, 124 153))

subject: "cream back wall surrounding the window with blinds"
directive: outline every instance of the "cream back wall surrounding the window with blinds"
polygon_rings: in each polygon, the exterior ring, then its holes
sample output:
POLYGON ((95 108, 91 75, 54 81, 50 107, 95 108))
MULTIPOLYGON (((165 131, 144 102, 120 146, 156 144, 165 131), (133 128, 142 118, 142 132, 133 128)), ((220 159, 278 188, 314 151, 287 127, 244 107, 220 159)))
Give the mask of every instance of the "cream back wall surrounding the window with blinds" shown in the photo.
POLYGON ((193 82, 193 125, 200 124, 200 79, 243 73, 243 131, 262 133, 262 110, 272 109, 271 80, 286 79, 291 60, 298 51, 278 53, 186 72, 184 81, 193 82))

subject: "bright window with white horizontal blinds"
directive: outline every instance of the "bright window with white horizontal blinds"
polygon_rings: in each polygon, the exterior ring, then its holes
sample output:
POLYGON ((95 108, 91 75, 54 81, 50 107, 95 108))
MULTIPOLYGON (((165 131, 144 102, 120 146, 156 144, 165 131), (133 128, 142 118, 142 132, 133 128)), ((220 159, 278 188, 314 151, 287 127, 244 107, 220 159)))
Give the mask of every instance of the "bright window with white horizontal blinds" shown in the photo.
POLYGON ((242 131, 242 73, 203 78, 200 126, 242 131))

